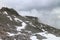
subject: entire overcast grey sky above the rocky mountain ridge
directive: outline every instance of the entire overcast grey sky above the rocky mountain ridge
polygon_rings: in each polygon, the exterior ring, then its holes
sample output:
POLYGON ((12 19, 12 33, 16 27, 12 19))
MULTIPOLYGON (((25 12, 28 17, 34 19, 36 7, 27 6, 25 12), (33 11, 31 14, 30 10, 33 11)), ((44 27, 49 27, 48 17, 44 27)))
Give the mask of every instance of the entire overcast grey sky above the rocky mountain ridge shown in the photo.
POLYGON ((14 8, 23 16, 36 16, 41 22, 60 28, 60 0, 0 0, 0 8, 2 6, 14 8))

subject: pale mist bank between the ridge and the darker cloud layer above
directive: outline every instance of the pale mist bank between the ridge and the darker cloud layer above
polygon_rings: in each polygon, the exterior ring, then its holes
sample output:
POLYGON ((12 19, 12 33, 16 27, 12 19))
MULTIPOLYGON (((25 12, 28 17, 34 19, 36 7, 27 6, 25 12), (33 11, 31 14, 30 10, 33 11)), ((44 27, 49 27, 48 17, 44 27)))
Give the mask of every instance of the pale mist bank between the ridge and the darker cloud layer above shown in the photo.
POLYGON ((52 10, 36 10, 31 11, 18 11, 22 16, 34 16, 39 18, 39 22, 48 24, 55 28, 60 29, 60 8, 55 8, 52 10))

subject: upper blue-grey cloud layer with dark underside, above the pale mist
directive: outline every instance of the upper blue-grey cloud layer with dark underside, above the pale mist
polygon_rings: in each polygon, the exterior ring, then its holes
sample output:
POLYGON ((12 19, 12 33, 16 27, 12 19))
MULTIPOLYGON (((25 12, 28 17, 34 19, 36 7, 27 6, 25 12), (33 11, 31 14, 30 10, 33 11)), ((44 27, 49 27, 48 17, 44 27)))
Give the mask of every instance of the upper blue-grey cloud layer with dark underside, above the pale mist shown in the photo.
POLYGON ((60 5, 60 0, 1 0, 4 6, 17 10, 51 9, 60 5))

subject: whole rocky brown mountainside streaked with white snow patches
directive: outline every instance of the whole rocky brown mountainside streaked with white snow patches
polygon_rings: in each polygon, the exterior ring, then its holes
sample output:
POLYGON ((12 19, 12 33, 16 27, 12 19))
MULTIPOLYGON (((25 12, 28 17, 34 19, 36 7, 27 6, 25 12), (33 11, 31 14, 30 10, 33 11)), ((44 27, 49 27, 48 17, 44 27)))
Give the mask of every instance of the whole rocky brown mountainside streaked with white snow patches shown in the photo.
POLYGON ((0 9, 0 40, 60 40, 60 29, 21 16, 14 9, 0 9))

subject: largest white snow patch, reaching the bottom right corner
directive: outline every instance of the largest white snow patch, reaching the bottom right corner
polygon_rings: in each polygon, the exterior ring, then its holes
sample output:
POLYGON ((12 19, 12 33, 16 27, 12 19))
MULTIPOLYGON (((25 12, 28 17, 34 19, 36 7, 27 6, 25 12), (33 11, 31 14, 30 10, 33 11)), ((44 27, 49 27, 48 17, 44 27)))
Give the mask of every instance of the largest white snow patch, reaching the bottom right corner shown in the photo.
POLYGON ((51 33, 40 32, 40 33, 36 33, 36 34, 39 34, 39 35, 47 38, 47 39, 43 39, 43 40, 60 40, 60 37, 56 37, 55 35, 53 35, 51 33))

